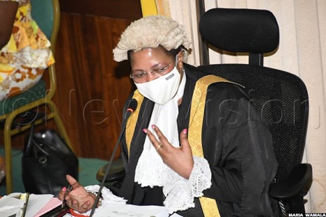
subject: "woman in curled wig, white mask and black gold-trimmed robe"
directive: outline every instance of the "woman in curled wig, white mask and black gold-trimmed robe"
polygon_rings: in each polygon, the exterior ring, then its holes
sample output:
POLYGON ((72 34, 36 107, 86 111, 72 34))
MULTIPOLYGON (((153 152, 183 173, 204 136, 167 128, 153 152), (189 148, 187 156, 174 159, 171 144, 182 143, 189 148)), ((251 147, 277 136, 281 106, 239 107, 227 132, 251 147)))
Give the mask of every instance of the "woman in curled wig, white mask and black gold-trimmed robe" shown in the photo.
MULTIPOLYGON (((138 105, 122 140, 127 173, 116 194, 181 216, 275 216, 268 188, 277 162, 265 122, 242 86, 187 65, 187 49, 182 26, 162 16, 132 23, 114 49, 116 61, 130 61, 137 86, 124 111, 132 99, 138 105)), ((67 179, 72 191, 59 198, 91 209, 95 194, 67 179)))

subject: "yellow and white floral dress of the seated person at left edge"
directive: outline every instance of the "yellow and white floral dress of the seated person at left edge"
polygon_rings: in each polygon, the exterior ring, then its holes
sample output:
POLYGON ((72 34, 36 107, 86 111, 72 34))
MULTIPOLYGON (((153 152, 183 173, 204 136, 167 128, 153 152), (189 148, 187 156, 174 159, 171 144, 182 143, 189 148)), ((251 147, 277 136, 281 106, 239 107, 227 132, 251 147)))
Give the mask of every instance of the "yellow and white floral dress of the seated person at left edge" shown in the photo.
POLYGON ((50 42, 31 18, 30 0, 19 3, 13 32, 0 50, 0 101, 34 86, 54 63, 50 42))

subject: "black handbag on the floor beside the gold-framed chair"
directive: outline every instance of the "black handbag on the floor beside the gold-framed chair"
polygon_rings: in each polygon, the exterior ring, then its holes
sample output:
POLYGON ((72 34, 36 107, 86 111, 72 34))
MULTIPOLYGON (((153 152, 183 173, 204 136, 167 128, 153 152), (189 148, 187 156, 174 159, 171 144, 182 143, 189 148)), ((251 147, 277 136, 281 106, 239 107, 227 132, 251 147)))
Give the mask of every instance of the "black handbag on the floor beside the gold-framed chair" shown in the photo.
POLYGON ((78 159, 65 140, 46 129, 26 138, 22 155, 22 179, 25 191, 35 194, 58 195, 67 185, 65 175, 78 180, 78 159))

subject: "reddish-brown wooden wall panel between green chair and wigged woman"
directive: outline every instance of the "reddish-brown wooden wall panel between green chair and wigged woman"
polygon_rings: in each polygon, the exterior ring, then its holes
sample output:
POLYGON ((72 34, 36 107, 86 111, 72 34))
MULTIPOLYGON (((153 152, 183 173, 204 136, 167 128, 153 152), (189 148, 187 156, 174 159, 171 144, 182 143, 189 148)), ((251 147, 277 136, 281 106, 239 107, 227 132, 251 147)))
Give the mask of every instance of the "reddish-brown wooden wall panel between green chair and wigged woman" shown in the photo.
MULTIPOLYGON (((112 49, 132 19, 61 13, 54 102, 78 156, 109 159, 134 86, 112 49)), ((118 155, 118 154, 117 154, 118 155)))

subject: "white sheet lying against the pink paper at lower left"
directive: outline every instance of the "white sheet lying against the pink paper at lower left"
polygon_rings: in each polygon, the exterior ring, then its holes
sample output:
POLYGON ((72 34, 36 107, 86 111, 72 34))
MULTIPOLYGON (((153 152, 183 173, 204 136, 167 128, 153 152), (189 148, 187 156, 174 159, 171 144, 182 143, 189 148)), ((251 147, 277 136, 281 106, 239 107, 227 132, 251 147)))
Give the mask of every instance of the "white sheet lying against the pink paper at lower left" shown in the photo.
POLYGON ((54 195, 52 194, 42 194, 29 195, 29 202, 27 204, 26 216, 35 216, 38 211, 40 211, 54 195))

